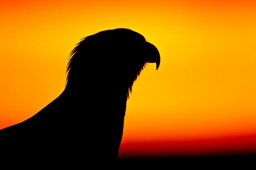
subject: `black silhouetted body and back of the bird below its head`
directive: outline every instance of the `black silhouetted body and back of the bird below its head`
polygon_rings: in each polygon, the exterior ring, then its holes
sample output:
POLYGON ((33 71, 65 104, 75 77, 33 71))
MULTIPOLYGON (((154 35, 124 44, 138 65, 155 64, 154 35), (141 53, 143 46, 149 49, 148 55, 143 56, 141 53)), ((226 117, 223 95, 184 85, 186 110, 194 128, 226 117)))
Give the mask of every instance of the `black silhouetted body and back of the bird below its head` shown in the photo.
MULTIPOLYGON (((124 112, 77 97, 64 91, 36 115, 0 130, 1 160, 54 164, 116 161, 124 112)), ((115 105, 120 105, 120 100, 115 105)))

